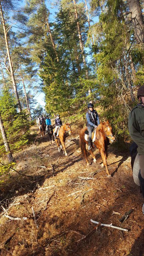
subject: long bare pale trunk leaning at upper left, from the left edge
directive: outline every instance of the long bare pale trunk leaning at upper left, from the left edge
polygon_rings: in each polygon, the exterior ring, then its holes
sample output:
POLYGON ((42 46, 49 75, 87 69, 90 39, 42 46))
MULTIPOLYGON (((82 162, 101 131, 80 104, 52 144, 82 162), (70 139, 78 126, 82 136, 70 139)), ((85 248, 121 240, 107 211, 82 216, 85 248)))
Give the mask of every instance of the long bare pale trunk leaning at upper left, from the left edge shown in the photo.
POLYGON ((11 78, 12 78, 13 89, 14 89, 14 92, 15 92, 15 96, 16 96, 17 103, 18 103, 18 109, 19 109, 19 112, 20 112, 22 109, 21 109, 19 95, 18 95, 18 92, 17 92, 16 82, 15 82, 14 73, 13 73, 12 60, 11 60, 11 55, 10 55, 10 50, 9 50, 9 44, 8 44, 7 32, 6 32, 6 28, 5 28, 5 21, 4 21, 1 1, 0 1, 0 14, 1 14, 1 19, 2 19, 2 23, 3 23, 5 44, 6 44, 6 50, 7 50, 7 55, 8 55, 8 59, 9 59, 10 73, 11 73, 11 78))

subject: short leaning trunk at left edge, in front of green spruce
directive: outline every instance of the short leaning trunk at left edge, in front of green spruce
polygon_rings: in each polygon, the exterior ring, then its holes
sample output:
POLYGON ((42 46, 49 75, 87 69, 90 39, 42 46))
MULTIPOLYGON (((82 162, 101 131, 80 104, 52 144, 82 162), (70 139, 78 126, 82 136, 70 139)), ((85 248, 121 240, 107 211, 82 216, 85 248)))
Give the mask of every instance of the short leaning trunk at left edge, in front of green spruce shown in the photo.
POLYGON ((12 157, 10 146, 9 146, 9 143, 8 143, 8 140, 7 140, 7 137, 6 137, 6 133, 5 133, 5 130, 4 130, 4 124, 3 124, 3 120, 1 118, 1 115, 0 115, 0 129, 1 129, 2 138, 3 138, 3 141, 4 141, 5 151, 7 153, 7 158, 9 160, 9 162, 12 162, 12 161, 14 161, 14 159, 12 157))

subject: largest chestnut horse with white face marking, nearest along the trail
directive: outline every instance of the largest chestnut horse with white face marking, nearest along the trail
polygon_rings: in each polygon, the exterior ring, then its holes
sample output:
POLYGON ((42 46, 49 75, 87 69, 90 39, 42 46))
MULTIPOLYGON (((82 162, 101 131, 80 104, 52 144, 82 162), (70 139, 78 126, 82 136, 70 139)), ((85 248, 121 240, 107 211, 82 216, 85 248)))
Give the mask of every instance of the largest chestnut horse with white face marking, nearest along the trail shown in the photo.
MULTIPOLYGON (((79 145, 81 147, 83 157, 85 158, 87 165, 89 165, 89 162, 87 159, 87 154, 86 154, 86 148, 85 148, 85 145, 88 144, 88 141, 86 141, 84 139, 86 130, 87 130, 87 127, 84 127, 79 133, 79 135, 80 135, 79 145)), ((108 166, 107 166, 108 143, 109 143, 108 139, 110 140, 110 142, 113 142, 115 140, 115 137, 112 134, 112 127, 108 121, 103 122, 103 123, 101 122, 96 129, 96 139, 95 139, 95 142, 93 142, 93 143, 100 151, 100 155, 103 160, 101 167, 104 167, 104 166, 106 167, 107 175, 108 175, 108 177, 110 177, 111 175, 108 172, 108 166)), ((94 146, 93 146, 93 148, 94 148, 94 146)), ((96 163, 96 158, 95 158, 92 150, 89 150, 89 152, 93 157, 93 162, 96 163)))

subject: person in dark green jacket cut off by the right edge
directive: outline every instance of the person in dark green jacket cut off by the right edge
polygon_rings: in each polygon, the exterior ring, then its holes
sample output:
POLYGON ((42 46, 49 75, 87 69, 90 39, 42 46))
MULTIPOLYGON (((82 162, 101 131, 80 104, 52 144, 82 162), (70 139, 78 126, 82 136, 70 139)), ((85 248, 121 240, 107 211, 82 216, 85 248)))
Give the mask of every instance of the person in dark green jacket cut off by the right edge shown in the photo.
POLYGON ((138 89, 137 97, 140 103, 131 110, 128 127, 132 140, 138 145, 137 151, 140 158, 140 172, 138 177, 144 197, 144 85, 138 89))

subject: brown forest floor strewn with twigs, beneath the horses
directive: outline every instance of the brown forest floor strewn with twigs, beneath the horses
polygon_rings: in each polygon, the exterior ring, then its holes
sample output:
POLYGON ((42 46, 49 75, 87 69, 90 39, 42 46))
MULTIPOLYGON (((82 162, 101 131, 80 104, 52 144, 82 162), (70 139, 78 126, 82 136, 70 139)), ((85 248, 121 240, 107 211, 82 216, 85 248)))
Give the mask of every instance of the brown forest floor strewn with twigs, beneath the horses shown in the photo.
MULTIPOLYGON (((31 127, 32 133, 37 130, 31 127)), ((8 209, 14 202, 6 214, 27 220, 9 220, 1 209, 1 256, 144 255, 143 198, 132 178, 129 153, 119 152, 113 145, 108 147, 108 169, 113 174, 108 179, 105 168, 100 167, 97 149, 97 164, 89 156, 92 164, 86 166, 78 139, 78 132, 66 138, 68 156, 59 153, 56 143, 51 145, 48 137, 37 138, 15 155, 14 168, 32 177, 11 172, 1 185, 1 204, 8 209), (119 219, 130 209, 134 211, 121 224, 119 219), (112 215, 113 211, 120 215, 112 215), (95 226, 91 218, 128 228, 129 232, 99 227, 75 243, 95 226)))

